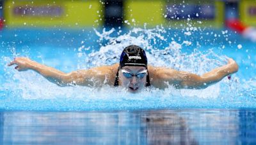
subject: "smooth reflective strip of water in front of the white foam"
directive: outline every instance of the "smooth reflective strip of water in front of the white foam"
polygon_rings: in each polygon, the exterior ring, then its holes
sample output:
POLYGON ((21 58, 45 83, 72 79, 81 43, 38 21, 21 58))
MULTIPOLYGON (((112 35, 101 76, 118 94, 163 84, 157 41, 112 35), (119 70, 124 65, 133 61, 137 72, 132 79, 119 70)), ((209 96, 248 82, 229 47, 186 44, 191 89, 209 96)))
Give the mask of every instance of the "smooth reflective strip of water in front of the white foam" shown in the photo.
POLYGON ((0 113, 1 144, 255 144, 253 110, 0 113))

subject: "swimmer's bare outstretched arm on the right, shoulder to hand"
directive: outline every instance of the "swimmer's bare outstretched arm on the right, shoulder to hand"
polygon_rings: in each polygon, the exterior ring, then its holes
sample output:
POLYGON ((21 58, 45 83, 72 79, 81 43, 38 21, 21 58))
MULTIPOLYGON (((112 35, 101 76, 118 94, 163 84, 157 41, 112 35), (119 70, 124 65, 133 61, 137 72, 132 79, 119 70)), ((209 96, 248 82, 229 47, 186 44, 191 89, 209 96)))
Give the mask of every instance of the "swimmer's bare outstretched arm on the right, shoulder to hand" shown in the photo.
MULTIPOLYGON (((225 66, 213 69, 210 72, 198 76, 190 72, 176 71, 174 69, 161 69, 157 73, 161 74, 159 79, 162 82, 169 83, 175 88, 207 88, 214 83, 217 83, 225 76, 238 71, 238 66, 233 59, 228 59, 228 64, 225 66)), ((160 75, 157 75, 160 76, 160 75)), ((158 83, 159 85, 160 83, 158 83)), ((163 86, 164 84, 161 84, 163 86)))

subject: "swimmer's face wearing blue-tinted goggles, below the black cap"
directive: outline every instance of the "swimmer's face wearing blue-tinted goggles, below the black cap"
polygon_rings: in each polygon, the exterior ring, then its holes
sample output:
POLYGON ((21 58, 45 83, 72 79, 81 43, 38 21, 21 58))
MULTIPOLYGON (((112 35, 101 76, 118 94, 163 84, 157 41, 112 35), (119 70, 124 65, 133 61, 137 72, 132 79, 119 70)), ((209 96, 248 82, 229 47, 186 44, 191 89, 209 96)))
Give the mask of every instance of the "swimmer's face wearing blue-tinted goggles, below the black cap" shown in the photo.
POLYGON ((129 92, 140 92, 147 83, 147 69, 140 66, 125 66, 120 69, 120 85, 129 92))

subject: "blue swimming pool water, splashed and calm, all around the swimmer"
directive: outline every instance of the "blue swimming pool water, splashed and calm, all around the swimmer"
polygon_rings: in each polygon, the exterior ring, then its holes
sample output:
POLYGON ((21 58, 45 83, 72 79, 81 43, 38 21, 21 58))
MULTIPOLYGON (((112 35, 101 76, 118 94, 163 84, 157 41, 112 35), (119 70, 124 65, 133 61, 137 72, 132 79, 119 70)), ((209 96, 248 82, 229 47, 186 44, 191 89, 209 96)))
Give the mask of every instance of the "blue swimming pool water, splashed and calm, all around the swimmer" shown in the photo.
POLYGON ((4 29, 0 44, 0 143, 256 142, 256 46, 234 32, 4 29), (131 94, 111 86, 60 87, 33 71, 6 66, 17 56, 64 72, 110 65, 131 44, 146 48, 148 64, 154 66, 202 74, 232 57, 239 71, 204 90, 170 86, 131 94))

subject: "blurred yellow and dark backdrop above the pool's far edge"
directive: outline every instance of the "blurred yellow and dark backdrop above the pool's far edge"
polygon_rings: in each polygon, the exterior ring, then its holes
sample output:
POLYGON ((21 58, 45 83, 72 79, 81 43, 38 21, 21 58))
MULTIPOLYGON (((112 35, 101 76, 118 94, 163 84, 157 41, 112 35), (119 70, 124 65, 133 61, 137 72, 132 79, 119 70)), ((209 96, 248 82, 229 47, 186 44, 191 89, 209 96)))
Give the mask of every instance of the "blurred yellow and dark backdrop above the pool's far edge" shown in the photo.
POLYGON ((256 25, 255 0, 0 0, 0 28, 182 27, 243 32, 256 25))

